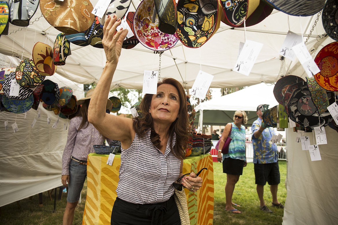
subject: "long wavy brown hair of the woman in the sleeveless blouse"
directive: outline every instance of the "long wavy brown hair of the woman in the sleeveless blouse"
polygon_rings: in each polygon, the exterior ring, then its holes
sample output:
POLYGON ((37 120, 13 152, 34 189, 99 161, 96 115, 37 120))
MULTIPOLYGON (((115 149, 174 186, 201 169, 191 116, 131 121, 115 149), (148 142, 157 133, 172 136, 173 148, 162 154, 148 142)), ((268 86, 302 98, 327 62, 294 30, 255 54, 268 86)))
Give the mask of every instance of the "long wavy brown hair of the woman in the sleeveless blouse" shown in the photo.
MULTIPOLYGON (((187 110, 187 97, 183 89, 183 86, 173 78, 164 78, 162 81, 157 83, 157 86, 161 84, 171 84, 176 87, 179 97, 179 117, 171 124, 169 128, 170 135, 170 149, 174 156, 179 159, 184 159, 186 153, 186 147, 188 142, 189 134, 189 116, 187 110), (174 148, 172 148, 172 141, 174 133, 176 133, 176 143, 174 148)), ((152 94, 145 94, 141 103, 140 110, 143 114, 142 118, 135 117, 133 127, 136 133, 142 138, 148 129, 151 129, 150 140, 152 144, 160 149, 162 148, 160 142, 160 135, 155 132, 153 128, 153 120, 151 114, 149 113, 149 108, 152 100, 152 94)))

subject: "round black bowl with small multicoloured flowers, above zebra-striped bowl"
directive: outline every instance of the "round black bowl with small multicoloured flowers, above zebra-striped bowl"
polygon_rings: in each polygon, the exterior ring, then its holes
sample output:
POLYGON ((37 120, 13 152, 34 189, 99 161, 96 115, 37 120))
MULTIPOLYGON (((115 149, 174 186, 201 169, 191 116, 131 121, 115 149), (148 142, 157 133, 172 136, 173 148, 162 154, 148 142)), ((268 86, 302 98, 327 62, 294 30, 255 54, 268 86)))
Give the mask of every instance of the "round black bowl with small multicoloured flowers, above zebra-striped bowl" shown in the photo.
POLYGON ((45 76, 35 67, 32 58, 22 60, 15 71, 15 79, 23 87, 36 87, 42 83, 45 76))

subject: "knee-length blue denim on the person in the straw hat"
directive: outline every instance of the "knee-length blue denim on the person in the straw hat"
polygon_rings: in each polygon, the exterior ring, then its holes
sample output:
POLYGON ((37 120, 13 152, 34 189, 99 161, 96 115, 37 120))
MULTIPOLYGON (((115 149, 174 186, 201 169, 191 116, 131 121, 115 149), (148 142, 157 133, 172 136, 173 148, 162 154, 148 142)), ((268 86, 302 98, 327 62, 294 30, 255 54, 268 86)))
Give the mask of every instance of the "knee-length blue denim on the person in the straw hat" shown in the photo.
POLYGON ((87 166, 80 165, 78 162, 70 160, 67 202, 77 202, 80 199, 86 176, 87 166))

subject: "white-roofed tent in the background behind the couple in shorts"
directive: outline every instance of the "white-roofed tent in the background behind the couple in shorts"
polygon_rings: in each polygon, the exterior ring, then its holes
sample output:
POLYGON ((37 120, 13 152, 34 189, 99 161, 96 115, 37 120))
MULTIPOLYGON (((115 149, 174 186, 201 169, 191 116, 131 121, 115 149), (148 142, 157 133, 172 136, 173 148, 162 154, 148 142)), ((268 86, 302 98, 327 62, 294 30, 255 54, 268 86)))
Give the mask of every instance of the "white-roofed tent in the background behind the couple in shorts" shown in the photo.
POLYGON ((260 83, 246 87, 237 92, 224 95, 200 103, 195 107, 196 119, 194 125, 219 125, 225 126, 232 123, 234 113, 237 110, 244 110, 248 117, 247 125, 257 119, 256 109, 260 104, 269 104, 269 108, 277 105, 273 95, 274 85, 260 83))

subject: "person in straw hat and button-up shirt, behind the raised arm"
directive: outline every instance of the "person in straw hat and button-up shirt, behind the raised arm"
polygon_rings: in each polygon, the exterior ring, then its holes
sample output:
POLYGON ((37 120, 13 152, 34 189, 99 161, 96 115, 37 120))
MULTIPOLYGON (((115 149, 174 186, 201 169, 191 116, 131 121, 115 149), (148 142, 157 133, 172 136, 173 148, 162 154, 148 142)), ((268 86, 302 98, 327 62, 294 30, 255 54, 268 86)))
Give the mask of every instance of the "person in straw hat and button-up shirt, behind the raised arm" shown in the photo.
MULTIPOLYGON (((82 106, 69 123, 67 143, 62 155, 61 182, 68 187, 63 225, 73 223, 75 207, 87 176, 87 156, 94 152, 93 145, 102 145, 105 139, 108 143, 111 142, 88 122, 88 105, 93 92, 94 89, 89 90, 86 97, 77 101, 82 106)), ((108 108, 111 104, 107 99, 104 107, 108 108)))

